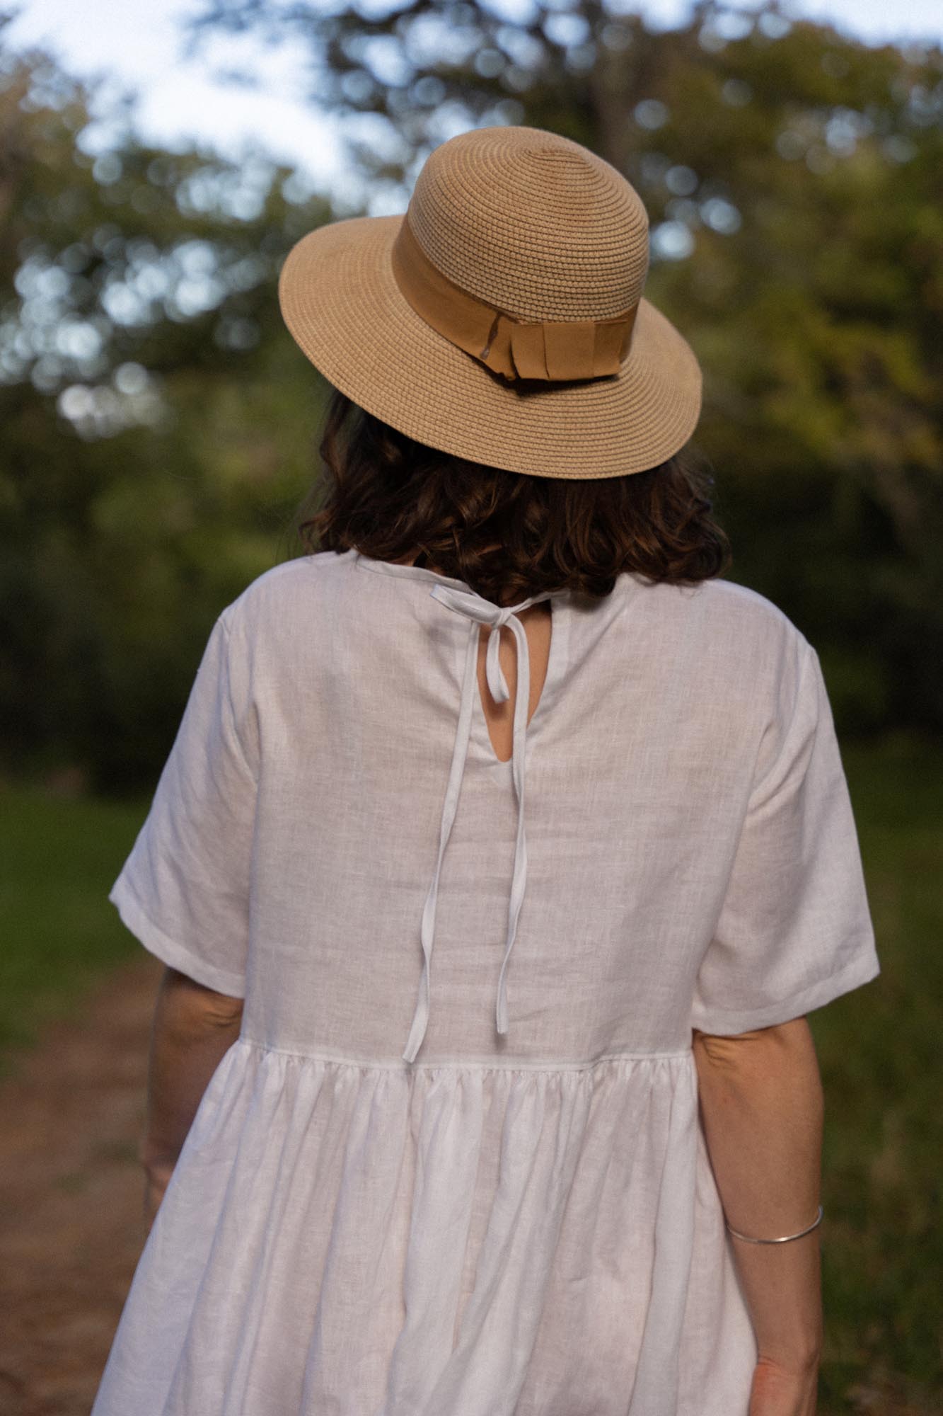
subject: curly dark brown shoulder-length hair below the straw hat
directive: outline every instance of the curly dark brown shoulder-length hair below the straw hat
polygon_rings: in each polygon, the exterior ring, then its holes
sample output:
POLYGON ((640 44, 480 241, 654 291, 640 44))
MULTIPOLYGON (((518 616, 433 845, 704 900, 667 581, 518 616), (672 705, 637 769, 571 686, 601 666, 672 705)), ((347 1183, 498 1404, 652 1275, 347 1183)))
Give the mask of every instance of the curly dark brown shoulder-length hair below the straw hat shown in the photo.
POLYGON ((415 442, 334 389, 319 453, 319 510, 297 527, 307 552, 412 561, 493 605, 558 589, 605 596, 623 571, 697 585, 731 564, 714 477, 691 442, 624 477, 522 476, 415 442))

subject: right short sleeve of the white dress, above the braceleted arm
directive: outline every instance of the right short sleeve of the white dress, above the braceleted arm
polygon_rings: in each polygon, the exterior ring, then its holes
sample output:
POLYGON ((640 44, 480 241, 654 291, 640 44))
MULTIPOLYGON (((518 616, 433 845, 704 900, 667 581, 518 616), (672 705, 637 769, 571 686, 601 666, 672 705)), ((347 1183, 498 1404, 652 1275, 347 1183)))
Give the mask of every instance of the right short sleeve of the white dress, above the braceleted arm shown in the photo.
POLYGON ((791 712, 772 762, 758 762, 701 960, 691 1011, 701 1032, 786 1022, 881 971, 831 707, 803 636, 793 680, 791 712))

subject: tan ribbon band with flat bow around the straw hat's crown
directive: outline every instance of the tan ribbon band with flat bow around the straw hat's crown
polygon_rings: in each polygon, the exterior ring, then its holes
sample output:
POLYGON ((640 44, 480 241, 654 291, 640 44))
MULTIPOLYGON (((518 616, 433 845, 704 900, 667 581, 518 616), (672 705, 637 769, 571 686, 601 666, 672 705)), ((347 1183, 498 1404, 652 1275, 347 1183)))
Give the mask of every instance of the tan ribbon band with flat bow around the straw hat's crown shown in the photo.
POLYGON ((637 303, 607 320, 518 320, 442 275, 406 217, 391 265, 404 299, 426 324, 505 378, 598 378, 617 374, 629 353, 637 303))

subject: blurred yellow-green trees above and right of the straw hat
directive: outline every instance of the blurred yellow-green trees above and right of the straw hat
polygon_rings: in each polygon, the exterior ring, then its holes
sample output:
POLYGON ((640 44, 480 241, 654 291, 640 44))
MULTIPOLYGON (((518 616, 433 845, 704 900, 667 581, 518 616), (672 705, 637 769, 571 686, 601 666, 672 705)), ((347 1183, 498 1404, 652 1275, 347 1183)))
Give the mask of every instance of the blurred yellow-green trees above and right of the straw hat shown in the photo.
POLYGON ((943 725, 943 55, 871 48, 777 3, 205 0, 307 47, 370 210, 443 139, 530 123, 588 144, 651 218, 646 295, 702 361, 697 440, 733 575, 821 649, 845 729, 943 725))

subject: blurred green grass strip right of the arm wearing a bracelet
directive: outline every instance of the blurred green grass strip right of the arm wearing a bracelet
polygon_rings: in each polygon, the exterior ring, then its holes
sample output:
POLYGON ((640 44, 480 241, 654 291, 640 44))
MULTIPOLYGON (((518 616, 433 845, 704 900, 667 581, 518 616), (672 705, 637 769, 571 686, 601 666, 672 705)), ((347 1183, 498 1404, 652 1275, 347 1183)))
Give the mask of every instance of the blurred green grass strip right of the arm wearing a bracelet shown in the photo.
POLYGON ((842 756, 881 974, 810 1017, 827 1104, 820 1416, 929 1413, 943 1396, 943 748, 901 736, 842 756))

